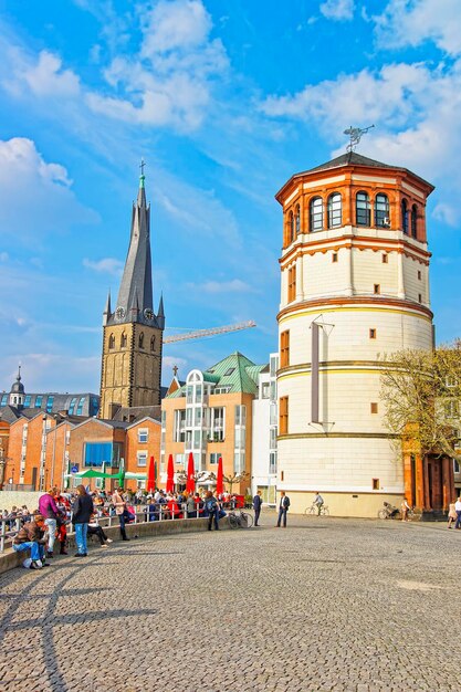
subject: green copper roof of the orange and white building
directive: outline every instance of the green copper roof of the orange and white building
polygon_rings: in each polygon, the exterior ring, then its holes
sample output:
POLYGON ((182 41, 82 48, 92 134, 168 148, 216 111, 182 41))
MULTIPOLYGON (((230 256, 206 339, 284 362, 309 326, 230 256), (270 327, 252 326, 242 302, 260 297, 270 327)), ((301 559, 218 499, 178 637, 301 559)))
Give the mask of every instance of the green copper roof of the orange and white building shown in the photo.
MULTIPOLYGON (((217 387, 229 387, 230 392, 258 394, 258 376, 268 365, 255 365, 247 356, 235 350, 202 373, 206 382, 217 387)), ((168 395, 168 399, 185 397, 186 386, 168 395)))

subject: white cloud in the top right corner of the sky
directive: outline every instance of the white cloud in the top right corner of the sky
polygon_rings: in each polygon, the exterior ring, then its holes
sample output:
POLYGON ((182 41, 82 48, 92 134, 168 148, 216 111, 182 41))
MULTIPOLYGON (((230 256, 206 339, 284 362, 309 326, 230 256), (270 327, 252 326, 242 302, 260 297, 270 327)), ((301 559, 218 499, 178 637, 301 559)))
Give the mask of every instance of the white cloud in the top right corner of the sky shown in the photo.
POLYGON ((461 54, 459 0, 390 0, 373 21, 381 48, 416 46, 430 40, 451 55, 461 54))

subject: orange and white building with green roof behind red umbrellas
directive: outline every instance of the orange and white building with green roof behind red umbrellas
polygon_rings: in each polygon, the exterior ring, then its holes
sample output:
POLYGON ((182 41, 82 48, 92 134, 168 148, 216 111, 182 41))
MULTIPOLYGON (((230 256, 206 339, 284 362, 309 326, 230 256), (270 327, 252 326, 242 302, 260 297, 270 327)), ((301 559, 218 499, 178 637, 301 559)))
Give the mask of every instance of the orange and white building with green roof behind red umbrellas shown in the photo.
POLYGON ((224 476, 244 474, 232 492, 251 491, 253 401, 268 369, 235 352, 205 371, 190 370, 186 384, 161 402, 160 482, 169 454, 176 473, 184 473, 191 452, 196 472, 206 474, 203 484, 213 485, 222 457, 224 476))

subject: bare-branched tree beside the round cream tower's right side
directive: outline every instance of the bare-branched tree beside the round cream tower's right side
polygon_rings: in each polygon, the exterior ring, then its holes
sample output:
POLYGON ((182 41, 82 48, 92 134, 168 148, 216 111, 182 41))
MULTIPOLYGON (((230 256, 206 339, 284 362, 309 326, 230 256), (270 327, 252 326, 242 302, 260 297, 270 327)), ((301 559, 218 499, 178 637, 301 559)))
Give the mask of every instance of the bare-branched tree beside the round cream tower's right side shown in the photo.
POLYGON ((406 349, 383 359, 385 422, 398 454, 458 457, 461 342, 433 350, 406 349))

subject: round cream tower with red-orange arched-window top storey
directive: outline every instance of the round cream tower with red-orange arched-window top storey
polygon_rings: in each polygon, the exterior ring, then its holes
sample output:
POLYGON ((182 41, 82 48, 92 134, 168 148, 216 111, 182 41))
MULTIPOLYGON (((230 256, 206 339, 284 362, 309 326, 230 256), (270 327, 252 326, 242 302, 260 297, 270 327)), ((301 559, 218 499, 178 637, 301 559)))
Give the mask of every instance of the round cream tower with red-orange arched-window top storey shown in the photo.
POLYGON ((279 480, 302 512, 319 491, 331 514, 399 504, 380 401, 383 357, 432 347, 426 200, 411 171, 355 153, 293 176, 283 208, 279 480))

